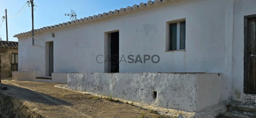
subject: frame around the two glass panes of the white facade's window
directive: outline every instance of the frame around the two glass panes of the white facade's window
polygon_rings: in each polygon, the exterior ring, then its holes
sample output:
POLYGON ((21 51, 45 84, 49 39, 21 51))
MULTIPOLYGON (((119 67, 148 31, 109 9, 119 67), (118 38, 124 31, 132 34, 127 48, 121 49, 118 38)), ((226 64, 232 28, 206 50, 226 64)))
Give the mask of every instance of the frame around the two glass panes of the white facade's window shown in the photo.
MULTIPOLYGON (((177 51, 177 50, 186 50, 186 45, 185 45, 185 49, 180 49, 180 23, 181 22, 185 22, 185 26, 186 26, 186 20, 179 20, 179 21, 175 21, 175 22, 169 22, 168 23, 168 46, 167 46, 167 50, 166 51, 177 51), (171 24, 177 24, 177 38, 176 38, 176 50, 170 50, 170 25, 171 24)), ((186 28, 185 28, 186 30, 186 28)), ((185 44, 186 44, 186 33, 185 33, 185 44)))

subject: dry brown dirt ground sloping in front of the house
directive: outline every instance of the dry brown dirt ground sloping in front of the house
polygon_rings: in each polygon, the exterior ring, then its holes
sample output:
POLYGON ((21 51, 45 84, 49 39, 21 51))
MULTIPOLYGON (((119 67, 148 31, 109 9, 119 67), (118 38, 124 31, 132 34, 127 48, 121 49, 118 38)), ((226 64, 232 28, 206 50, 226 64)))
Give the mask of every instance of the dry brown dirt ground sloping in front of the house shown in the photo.
POLYGON ((54 87, 56 83, 2 80, 2 84, 8 90, 0 90, 1 94, 26 101, 27 106, 47 118, 170 118, 130 103, 54 87))

